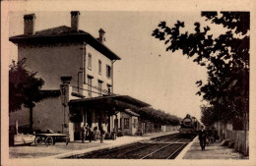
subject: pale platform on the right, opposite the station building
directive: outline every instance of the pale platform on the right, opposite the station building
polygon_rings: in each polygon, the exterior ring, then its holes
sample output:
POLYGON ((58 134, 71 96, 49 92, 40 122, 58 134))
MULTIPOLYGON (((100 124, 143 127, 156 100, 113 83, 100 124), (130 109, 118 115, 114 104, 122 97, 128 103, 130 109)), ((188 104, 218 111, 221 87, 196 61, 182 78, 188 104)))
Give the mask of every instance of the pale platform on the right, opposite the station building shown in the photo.
POLYGON ((221 141, 207 145, 202 151, 199 139, 196 137, 176 159, 248 159, 248 157, 235 152, 233 148, 222 146, 221 141))

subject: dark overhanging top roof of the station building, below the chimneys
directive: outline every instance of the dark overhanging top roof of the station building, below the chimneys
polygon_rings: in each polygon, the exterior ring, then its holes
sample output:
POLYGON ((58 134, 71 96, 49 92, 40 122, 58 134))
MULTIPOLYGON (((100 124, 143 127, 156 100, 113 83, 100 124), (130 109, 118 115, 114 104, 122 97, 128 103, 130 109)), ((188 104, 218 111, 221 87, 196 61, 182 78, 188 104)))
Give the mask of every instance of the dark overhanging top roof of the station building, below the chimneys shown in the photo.
POLYGON ((98 41, 92 34, 84 31, 74 31, 72 28, 61 26, 57 28, 47 28, 39 31, 35 31, 32 35, 21 34, 12 36, 9 38, 10 41, 14 43, 34 43, 34 42, 52 42, 56 40, 75 40, 75 41, 86 41, 92 45, 98 52, 105 55, 111 60, 120 60, 114 52, 107 48, 104 44, 98 41))

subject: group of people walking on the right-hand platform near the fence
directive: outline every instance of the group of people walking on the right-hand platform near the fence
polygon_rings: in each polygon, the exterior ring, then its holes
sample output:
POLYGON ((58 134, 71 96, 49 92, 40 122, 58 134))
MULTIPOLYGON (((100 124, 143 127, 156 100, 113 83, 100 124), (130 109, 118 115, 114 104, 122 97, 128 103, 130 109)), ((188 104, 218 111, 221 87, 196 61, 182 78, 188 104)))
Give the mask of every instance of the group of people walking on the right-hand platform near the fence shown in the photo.
POLYGON ((210 130, 205 130, 204 126, 201 126, 201 130, 198 131, 198 136, 202 151, 205 150, 207 141, 214 142, 216 139, 219 139, 218 132, 214 127, 210 130))

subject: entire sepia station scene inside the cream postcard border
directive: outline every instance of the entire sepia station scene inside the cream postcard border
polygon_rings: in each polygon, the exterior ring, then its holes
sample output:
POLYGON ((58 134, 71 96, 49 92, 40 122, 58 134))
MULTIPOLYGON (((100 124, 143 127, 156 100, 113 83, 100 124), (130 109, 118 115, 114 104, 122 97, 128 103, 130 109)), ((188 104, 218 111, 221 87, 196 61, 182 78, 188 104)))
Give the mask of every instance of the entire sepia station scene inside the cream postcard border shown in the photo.
POLYGON ((78 9, 7 12, 9 160, 253 159, 249 10, 78 9))

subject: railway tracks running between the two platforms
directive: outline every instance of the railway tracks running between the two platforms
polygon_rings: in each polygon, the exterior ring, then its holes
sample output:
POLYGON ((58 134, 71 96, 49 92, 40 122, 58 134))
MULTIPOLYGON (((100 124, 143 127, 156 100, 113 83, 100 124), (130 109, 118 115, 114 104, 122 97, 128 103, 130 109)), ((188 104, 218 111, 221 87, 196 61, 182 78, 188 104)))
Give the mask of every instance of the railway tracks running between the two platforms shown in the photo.
POLYGON ((178 134, 152 138, 112 149, 101 149, 66 158, 104 159, 174 159, 192 138, 181 138, 178 134))

